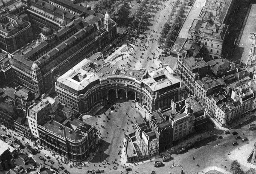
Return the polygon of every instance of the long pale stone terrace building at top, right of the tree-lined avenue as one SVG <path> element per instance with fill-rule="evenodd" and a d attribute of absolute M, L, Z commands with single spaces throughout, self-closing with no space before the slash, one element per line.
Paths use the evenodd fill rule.
<path fill-rule="evenodd" d="M 204 44 L 210 57 L 221 57 L 235 0 L 207 0 L 189 29 L 190 39 Z"/>

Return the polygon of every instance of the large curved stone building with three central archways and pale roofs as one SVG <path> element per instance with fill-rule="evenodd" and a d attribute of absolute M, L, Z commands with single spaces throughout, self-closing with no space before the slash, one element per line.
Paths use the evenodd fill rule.
<path fill-rule="evenodd" d="M 170 67 L 149 73 L 146 69 L 124 70 L 98 55 L 84 59 L 57 79 L 55 90 L 62 104 L 84 113 L 111 99 L 130 98 L 152 112 L 185 95 L 183 81 Z"/>

